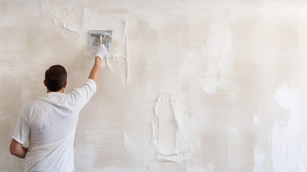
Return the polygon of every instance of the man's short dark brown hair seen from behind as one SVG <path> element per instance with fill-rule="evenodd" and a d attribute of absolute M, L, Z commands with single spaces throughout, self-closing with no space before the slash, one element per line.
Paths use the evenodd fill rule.
<path fill-rule="evenodd" d="M 61 65 L 53 65 L 45 72 L 45 82 L 49 91 L 59 91 L 64 87 L 67 72 Z"/>

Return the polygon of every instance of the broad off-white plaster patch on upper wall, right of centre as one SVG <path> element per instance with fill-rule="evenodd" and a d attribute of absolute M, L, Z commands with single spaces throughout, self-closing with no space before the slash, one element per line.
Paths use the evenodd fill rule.
<path fill-rule="evenodd" d="M 191 48 L 185 54 L 185 60 L 180 65 L 181 82 L 189 79 L 207 94 L 229 88 L 232 65 L 230 28 L 230 21 L 209 24 L 206 44 Z"/>

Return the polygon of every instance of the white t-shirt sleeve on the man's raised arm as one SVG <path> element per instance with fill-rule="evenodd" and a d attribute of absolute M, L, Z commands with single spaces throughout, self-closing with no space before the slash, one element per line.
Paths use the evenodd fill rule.
<path fill-rule="evenodd" d="M 84 105 L 90 100 L 92 95 L 96 92 L 97 86 L 94 80 L 87 79 L 83 86 L 75 88 L 69 92 L 72 94 L 73 101 L 77 101 L 80 108 L 83 108 Z"/>

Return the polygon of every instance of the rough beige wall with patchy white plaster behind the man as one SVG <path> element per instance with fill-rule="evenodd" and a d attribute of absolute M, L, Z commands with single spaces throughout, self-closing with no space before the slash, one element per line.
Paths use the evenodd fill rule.
<path fill-rule="evenodd" d="M 307 171 L 305 1 L 0 1 L 0 171 L 45 70 L 88 77 L 89 30 L 109 64 L 80 112 L 76 171 Z"/>

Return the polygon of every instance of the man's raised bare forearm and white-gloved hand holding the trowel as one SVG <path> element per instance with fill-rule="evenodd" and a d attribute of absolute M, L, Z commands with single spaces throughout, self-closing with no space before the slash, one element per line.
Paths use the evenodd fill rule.
<path fill-rule="evenodd" d="M 90 75 L 88 76 L 89 79 L 95 81 L 96 85 L 98 85 L 99 81 L 101 62 L 103 59 L 105 60 L 105 56 L 107 55 L 107 53 L 108 53 L 107 48 L 104 44 L 101 44 L 96 48 L 95 63 L 91 70 Z"/>

